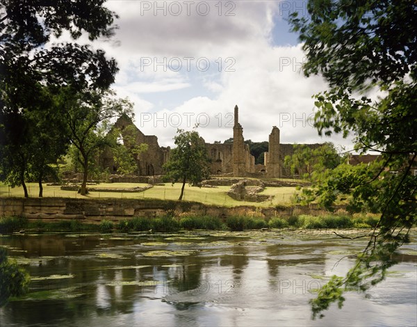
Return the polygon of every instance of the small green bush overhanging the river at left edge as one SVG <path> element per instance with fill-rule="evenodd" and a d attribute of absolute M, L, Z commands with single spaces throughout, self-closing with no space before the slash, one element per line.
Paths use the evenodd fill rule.
<path fill-rule="evenodd" d="M 0 308 L 6 305 L 10 296 L 21 296 L 28 291 L 29 274 L 8 259 L 7 250 L 0 246 Z"/>

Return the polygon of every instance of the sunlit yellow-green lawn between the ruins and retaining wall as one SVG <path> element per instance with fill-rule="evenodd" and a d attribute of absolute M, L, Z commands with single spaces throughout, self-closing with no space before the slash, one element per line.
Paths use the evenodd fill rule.
<path fill-rule="evenodd" d="M 37 183 L 26 184 L 29 197 L 37 198 L 39 187 Z M 147 186 L 147 184 L 135 183 L 101 183 L 92 187 L 101 189 L 131 189 L 136 186 Z M 291 202 L 291 196 L 295 193 L 295 187 L 267 187 L 261 194 L 274 196 L 272 200 L 265 202 L 245 202 L 237 201 L 227 196 L 229 186 L 218 186 L 216 188 L 198 188 L 186 184 L 185 196 L 183 200 L 202 202 L 206 205 L 220 205 L 226 207 L 235 207 L 238 205 L 256 205 L 257 207 L 271 207 L 275 205 L 284 205 Z M 117 193 L 117 192 L 100 192 L 92 191 L 88 196 L 80 196 L 76 191 L 63 191 L 60 186 L 44 185 L 44 198 L 156 198 L 161 200 L 177 200 L 181 193 L 181 184 L 164 186 L 154 186 L 152 189 L 140 193 Z M 5 184 L 0 184 L 0 197 L 23 197 L 23 188 L 12 188 Z"/>

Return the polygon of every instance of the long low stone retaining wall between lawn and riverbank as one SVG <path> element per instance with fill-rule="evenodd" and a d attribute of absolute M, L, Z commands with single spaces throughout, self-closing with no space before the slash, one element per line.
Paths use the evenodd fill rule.
<path fill-rule="evenodd" d="M 163 216 L 171 210 L 176 214 L 187 212 L 220 218 L 245 214 L 272 217 L 322 213 L 321 210 L 311 207 L 216 207 L 199 202 L 156 199 L 0 198 L 0 216 L 24 216 L 44 221 L 67 219 L 80 219 L 86 222 L 99 222 L 103 219 L 120 221 L 135 216 L 149 218 Z"/>

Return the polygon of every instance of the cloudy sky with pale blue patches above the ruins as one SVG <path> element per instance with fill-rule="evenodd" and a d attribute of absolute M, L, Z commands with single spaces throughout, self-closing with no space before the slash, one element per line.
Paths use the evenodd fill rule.
<path fill-rule="evenodd" d="M 199 123 L 206 142 L 232 136 L 233 109 L 245 139 L 281 143 L 333 141 L 311 127 L 311 95 L 325 90 L 320 77 L 300 72 L 304 55 L 289 32 L 288 13 L 306 13 L 306 1 L 122 1 L 106 6 L 120 18 L 111 40 L 95 42 L 117 59 L 113 86 L 135 103 L 136 125 L 173 145 L 177 128 Z"/>

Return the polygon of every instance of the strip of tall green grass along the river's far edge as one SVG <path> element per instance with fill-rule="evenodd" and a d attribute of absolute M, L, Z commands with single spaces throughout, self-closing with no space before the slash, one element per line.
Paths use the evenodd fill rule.
<path fill-rule="evenodd" d="M 22 217 L 0 218 L 0 234 L 12 232 L 177 232 L 178 230 L 252 230 L 261 228 L 373 228 L 379 216 L 375 214 L 326 214 L 311 216 L 302 214 L 269 219 L 250 216 L 229 216 L 221 219 L 213 216 L 183 214 L 178 217 L 135 217 L 118 223 L 101 221 L 99 224 L 79 220 L 45 222 Z"/>

